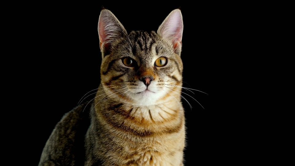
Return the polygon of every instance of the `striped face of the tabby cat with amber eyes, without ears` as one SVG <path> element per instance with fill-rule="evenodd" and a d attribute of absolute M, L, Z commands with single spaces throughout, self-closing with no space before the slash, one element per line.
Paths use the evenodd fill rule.
<path fill-rule="evenodd" d="M 175 89 L 168 85 L 182 86 L 182 61 L 171 42 L 155 32 L 133 31 L 113 47 L 100 71 L 102 84 L 118 86 L 105 88 L 114 90 L 113 96 L 122 93 L 118 97 L 128 96 L 133 105 L 153 105 Z"/>

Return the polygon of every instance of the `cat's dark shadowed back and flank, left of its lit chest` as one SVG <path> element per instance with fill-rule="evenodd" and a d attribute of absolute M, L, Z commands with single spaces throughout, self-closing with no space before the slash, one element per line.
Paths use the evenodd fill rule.
<path fill-rule="evenodd" d="M 41 165 L 84 165 L 84 136 L 90 125 L 91 103 L 85 102 L 61 118 L 55 125 L 41 154 Z"/>

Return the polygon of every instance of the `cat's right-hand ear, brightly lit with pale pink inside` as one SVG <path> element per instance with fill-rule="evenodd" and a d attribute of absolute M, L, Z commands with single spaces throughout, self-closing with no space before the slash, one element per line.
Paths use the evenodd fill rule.
<path fill-rule="evenodd" d="M 157 33 L 161 35 L 163 39 L 171 41 L 173 44 L 174 52 L 180 56 L 183 33 L 183 20 L 181 11 L 179 9 L 171 11 L 171 13 L 159 26 Z"/>

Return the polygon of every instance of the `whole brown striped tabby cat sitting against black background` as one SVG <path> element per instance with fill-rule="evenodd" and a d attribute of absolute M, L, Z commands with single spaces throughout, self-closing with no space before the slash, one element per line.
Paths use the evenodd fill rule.
<path fill-rule="evenodd" d="M 102 62 L 96 97 L 62 117 L 39 166 L 183 165 L 181 11 L 173 10 L 157 32 L 127 34 L 103 9 L 98 34 Z"/>

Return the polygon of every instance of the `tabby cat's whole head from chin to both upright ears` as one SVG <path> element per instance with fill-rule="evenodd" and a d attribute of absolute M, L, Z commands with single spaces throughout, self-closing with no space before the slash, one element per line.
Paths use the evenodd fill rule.
<path fill-rule="evenodd" d="M 101 83 L 108 98 L 121 98 L 133 105 L 154 105 L 171 97 L 179 99 L 183 70 L 180 58 L 183 20 L 179 9 L 167 16 L 157 33 L 130 34 L 111 11 L 104 9 L 99 17 L 98 34 Z"/>

